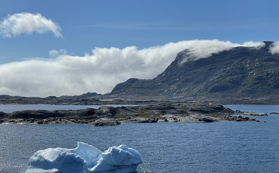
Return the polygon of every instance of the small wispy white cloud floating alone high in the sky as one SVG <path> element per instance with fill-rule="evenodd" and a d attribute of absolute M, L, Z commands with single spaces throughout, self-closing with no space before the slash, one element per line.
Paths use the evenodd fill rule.
<path fill-rule="evenodd" d="M 61 27 L 39 13 L 17 13 L 8 15 L 8 17 L 0 22 L 0 34 L 3 37 L 15 37 L 20 34 L 29 35 L 33 32 L 39 34 L 52 32 L 55 37 L 62 37 Z"/>

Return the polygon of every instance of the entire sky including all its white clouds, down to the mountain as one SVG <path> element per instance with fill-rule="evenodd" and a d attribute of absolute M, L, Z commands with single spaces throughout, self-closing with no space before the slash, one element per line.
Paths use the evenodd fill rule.
<path fill-rule="evenodd" d="M 107 93 L 176 54 L 279 41 L 279 1 L 0 1 L 0 95 Z M 279 52 L 279 43 L 273 53 Z"/>

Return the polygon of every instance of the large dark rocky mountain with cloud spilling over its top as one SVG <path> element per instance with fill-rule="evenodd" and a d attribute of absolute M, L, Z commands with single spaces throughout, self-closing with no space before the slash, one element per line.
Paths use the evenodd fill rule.
<path fill-rule="evenodd" d="M 279 54 L 271 54 L 274 42 L 262 47 L 234 47 L 208 58 L 184 62 L 188 50 L 177 54 L 154 79 L 117 84 L 112 98 L 262 98 L 279 93 Z"/>

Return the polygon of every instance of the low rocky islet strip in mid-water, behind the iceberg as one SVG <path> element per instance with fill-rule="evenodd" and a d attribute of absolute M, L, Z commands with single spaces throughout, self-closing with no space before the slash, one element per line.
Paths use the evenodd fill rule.
<path fill-rule="evenodd" d="M 113 126 L 123 122 L 259 122 L 256 118 L 242 117 L 241 115 L 267 116 L 267 114 L 233 111 L 223 107 L 221 104 L 213 103 L 156 103 L 144 106 L 101 106 L 99 109 L 0 112 L 0 124 L 89 124 L 93 126 Z"/>

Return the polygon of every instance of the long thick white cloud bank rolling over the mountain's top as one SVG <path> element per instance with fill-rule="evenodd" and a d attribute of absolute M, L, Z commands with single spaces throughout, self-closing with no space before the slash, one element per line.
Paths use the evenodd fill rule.
<path fill-rule="evenodd" d="M 246 42 L 249 46 L 262 43 Z M 219 40 L 189 40 L 139 50 L 98 48 L 92 54 L 71 56 L 64 50 L 50 51 L 52 58 L 35 58 L 0 65 L 0 94 L 20 96 L 107 93 L 129 78 L 152 79 L 162 73 L 178 52 L 189 49 L 192 60 L 242 46 Z"/>

